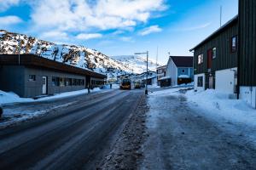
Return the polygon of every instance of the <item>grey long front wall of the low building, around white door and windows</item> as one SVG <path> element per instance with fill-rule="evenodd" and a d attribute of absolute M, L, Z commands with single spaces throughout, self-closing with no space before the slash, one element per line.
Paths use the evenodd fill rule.
<path fill-rule="evenodd" d="M 29 81 L 29 75 L 36 75 L 36 81 Z M 22 97 L 35 97 L 42 95 L 43 77 L 47 77 L 48 80 L 47 94 L 60 94 L 63 92 L 70 92 L 85 88 L 84 76 L 74 75 L 61 71 L 52 71 L 46 69 L 26 67 L 24 72 L 25 93 Z M 52 77 L 83 79 L 84 86 L 55 86 L 52 82 Z"/>

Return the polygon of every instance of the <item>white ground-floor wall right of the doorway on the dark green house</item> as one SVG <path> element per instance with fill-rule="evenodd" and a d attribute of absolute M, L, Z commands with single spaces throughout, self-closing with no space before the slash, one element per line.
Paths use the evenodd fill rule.
<path fill-rule="evenodd" d="M 216 71 L 215 72 L 215 89 L 219 92 L 234 94 L 235 71 L 237 71 L 237 68 Z"/>

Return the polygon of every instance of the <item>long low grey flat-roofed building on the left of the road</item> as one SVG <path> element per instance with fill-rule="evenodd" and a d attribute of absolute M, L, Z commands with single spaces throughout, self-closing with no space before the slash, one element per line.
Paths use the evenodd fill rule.
<path fill-rule="evenodd" d="M 20 62 L 19 62 L 20 60 Z M 104 83 L 107 76 L 33 54 L 0 55 L 0 89 L 37 98 Z"/>

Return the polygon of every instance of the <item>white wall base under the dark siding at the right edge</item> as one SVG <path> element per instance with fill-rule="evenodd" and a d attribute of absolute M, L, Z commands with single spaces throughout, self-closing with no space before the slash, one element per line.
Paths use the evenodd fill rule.
<path fill-rule="evenodd" d="M 251 105 L 256 109 L 256 87 L 240 87 L 240 99 L 247 102 L 248 105 Z"/>

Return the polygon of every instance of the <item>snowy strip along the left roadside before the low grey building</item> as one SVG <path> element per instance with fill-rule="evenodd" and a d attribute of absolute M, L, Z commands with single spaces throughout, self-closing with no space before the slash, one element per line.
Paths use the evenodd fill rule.
<path fill-rule="evenodd" d="M 109 89 L 94 88 L 91 93 L 103 94 Z M 76 100 L 66 100 L 67 98 L 76 97 L 87 94 L 87 89 L 55 94 L 41 99 L 20 98 L 17 94 L 5 93 L 0 91 L 0 104 L 3 105 L 3 116 L 0 117 L 0 128 L 9 127 L 11 125 L 26 122 L 44 116 L 50 111 L 56 111 L 67 108 L 70 105 L 76 104 Z M 63 102 L 55 102 L 55 99 L 65 99 Z M 50 102 L 50 104 L 42 104 Z"/>

